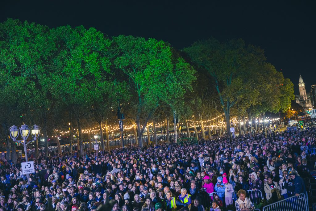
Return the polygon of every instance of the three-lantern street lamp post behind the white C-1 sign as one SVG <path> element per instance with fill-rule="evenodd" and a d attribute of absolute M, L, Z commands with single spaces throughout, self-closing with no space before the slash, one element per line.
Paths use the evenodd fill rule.
<path fill-rule="evenodd" d="M 19 133 L 21 134 L 23 140 L 16 140 L 17 137 L 19 136 Z M 23 143 L 24 153 L 25 153 L 25 162 L 28 161 L 26 145 L 31 141 L 37 140 L 37 138 L 40 134 L 40 127 L 37 125 L 32 126 L 31 133 L 32 133 L 33 140 L 29 140 L 27 142 L 27 138 L 30 135 L 30 128 L 26 124 L 23 124 L 21 127 L 17 127 L 15 125 L 10 127 L 10 137 L 12 138 L 12 140 L 15 142 L 19 142 L 21 144 Z M 27 174 L 27 183 L 30 184 L 30 175 L 29 174 Z"/>

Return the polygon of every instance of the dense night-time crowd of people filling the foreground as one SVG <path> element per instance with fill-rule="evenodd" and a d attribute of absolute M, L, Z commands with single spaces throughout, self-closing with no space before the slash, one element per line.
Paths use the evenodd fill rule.
<path fill-rule="evenodd" d="M 306 193 L 315 169 L 316 130 L 221 137 L 197 143 L 128 146 L 98 154 L 33 159 L 27 181 L 17 164 L 0 162 L 0 211 L 252 210 Z M 254 200 L 255 199 L 255 200 Z"/>

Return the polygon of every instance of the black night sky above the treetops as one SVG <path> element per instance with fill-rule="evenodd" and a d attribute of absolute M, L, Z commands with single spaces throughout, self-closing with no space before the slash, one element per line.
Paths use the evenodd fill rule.
<path fill-rule="evenodd" d="M 316 84 L 315 9 L 315 1 L 11 0 L 0 4 L 0 22 L 11 17 L 49 27 L 83 25 L 109 36 L 153 37 L 179 49 L 211 36 L 242 38 L 263 48 L 298 93 L 299 73 L 307 92 Z"/>

